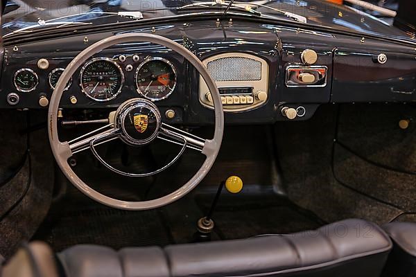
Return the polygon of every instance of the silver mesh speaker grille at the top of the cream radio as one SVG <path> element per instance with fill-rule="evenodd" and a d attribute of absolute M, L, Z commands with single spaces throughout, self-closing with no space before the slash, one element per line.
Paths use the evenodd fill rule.
<path fill-rule="evenodd" d="M 207 64 L 214 81 L 261 80 L 261 62 L 248 57 L 220 57 Z"/>

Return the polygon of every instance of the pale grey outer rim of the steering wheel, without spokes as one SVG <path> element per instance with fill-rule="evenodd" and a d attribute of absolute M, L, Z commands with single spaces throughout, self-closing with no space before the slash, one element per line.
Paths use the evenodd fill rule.
<path fill-rule="evenodd" d="M 102 51 L 105 48 L 113 46 L 114 44 L 122 44 L 125 42 L 150 42 L 153 44 L 159 44 L 168 48 L 171 48 L 176 53 L 182 55 L 185 59 L 187 59 L 200 73 L 202 78 L 207 83 L 209 91 L 212 95 L 212 100 L 214 102 L 214 114 L 215 114 L 215 131 L 214 131 L 214 138 L 211 140 L 207 140 L 205 143 L 204 150 L 202 151 L 203 154 L 206 155 L 206 159 L 198 172 L 196 172 L 186 184 L 184 184 L 181 188 L 175 190 L 173 193 L 165 195 L 164 197 L 160 197 L 157 199 L 152 199 L 143 202 L 130 202 L 130 201 L 123 201 L 120 199 L 114 199 L 112 197 L 108 197 L 101 193 L 98 193 L 97 190 L 89 187 L 87 184 L 81 180 L 75 172 L 73 172 L 72 168 L 67 163 L 67 159 L 72 156 L 71 150 L 69 149 L 68 143 L 62 143 L 59 140 L 58 136 L 58 108 L 60 99 L 62 98 L 62 93 L 64 88 L 73 75 L 75 71 L 78 69 L 79 66 L 84 64 L 90 57 L 94 54 Z M 55 157 L 58 166 L 64 173 L 64 175 L 71 181 L 71 183 L 76 186 L 82 193 L 87 195 L 88 197 L 100 202 L 101 204 L 105 204 L 107 206 L 111 206 L 113 208 L 120 208 L 123 210 L 133 210 L 133 211 L 140 211 L 140 210 L 148 210 L 152 208 L 158 208 L 160 206 L 165 206 L 170 204 L 184 195 L 187 195 L 193 188 L 198 186 L 200 181 L 205 178 L 209 170 L 214 164 L 214 161 L 218 155 L 218 151 L 220 150 L 221 141 L 223 139 L 223 130 L 224 130 L 224 113 L 223 113 L 223 106 L 220 100 L 220 93 L 218 92 L 218 88 L 214 80 L 212 80 L 211 76 L 207 72 L 205 66 L 200 62 L 196 55 L 193 55 L 191 51 L 184 46 L 177 44 L 177 42 L 173 42 L 171 39 L 167 39 L 165 37 L 159 35 L 152 35 L 146 33 L 128 33 L 128 34 L 121 34 L 121 35 L 114 35 L 112 37 L 107 37 L 102 39 L 99 42 L 96 42 L 86 48 L 84 51 L 80 52 L 72 61 L 69 63 L 67 68 L 64 70 L 62 75 L 60 76 L 58 83 L 55 86 L 55 90 L 51 96 L 51 101 L 49 104 L 49 111 L 48 111 L 48 134 L 49 134 L 49 142 L 51 143 L 51 148 L 53 152 L 53 156 Z"/>

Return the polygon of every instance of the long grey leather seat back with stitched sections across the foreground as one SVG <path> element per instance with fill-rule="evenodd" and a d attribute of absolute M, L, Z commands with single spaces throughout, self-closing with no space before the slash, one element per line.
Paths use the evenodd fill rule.
<path fill-rule="evenodd" d="M 66 277 L 376 277 L 380 276 L 391 248 L 388 235 L 375 224 L 345 220 L 291 235 L 182 244 L 165 249 L 114 251 L 78 245 L 58 253 L 58 260 Z M 9 276 L 16 275 L 3 277 Z"/>

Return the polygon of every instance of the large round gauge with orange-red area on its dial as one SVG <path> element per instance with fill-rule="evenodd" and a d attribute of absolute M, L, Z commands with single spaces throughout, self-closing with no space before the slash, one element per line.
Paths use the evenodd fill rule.
<path fill-rule="evenodd" d="M 150 57 L 136 70 L 137 92 L 152 101 L 167 98 L 176 86 L 173 64 L 162 57 Z"/>

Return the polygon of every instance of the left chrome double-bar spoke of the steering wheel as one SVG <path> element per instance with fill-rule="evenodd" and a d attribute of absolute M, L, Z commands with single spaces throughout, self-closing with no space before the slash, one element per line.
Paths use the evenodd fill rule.
<path fill-rule="evenodd" d="M 113 126 L 113 124 L 105 125 L 92 132 L 78 136 L 78 138 L 68 142 L 69 149 L 72 154 L 76 154 L 89 149 L 92 141 L 94 141 L 94 145 L 100 145 L 117 139 L 120 132 L 119 129 L 115 129 Z"/>

